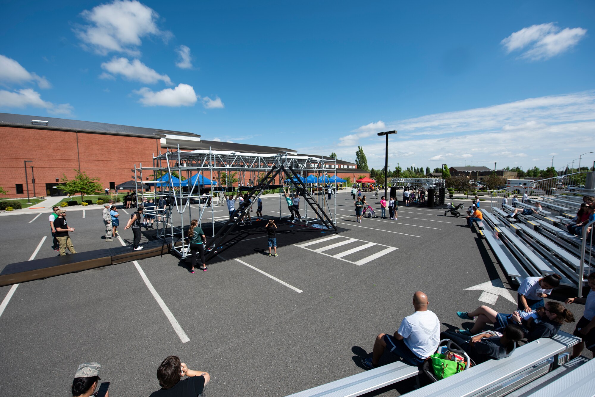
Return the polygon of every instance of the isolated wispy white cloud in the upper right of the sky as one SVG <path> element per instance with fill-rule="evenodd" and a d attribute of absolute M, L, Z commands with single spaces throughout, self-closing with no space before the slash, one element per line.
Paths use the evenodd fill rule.
<path fill-rule="evenodd" d="M 521 58 L 530 61 L 549 59 L 568 51 L 585 37 L 587 29 L 581 27 L 560 30 L 554 23 L 543 23 L 515 31 L 500 42 L 507 53 L 527 49 Z"/>

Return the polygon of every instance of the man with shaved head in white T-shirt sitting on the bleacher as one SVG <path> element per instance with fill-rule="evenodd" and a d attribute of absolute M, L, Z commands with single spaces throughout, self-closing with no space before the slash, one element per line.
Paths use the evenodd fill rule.
<path fill-rule="evenodd" d="M 428 297 L 423 292 L 415 292 L 415 313 L 403 319 L 394 335 L 378 335 L 374 342 L 372 358 L 362 357 L 362 365 L 368 369 L 377 367 L 387 347 L 405 363 L 416 367 L 421 366 L 426 358 L 434 354 L 440 344 L 440 322 L 436 314 L 428 310 L 428 304 Z"/>

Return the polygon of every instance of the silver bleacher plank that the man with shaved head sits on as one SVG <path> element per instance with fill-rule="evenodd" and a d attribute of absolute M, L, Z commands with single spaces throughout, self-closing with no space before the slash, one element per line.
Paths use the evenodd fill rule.
<path fill-rule="evenodd" d="M 324 385 L 312 387 L 293 393 L 287 397 L 352 397 L 372 392 L 381 387 L 392 385 L 401 380 L 416 376 L 417 367 L 409 366 L 403 361 L 387 364 L 359 374 L 334 380 Z"/>

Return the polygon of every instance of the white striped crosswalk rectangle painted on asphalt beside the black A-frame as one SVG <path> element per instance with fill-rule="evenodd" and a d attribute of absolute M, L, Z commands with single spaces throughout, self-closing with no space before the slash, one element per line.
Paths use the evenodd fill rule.
<path fill-rule="evenodd" d="M 334 240 L 336 238 L 343 238 L 344 240 L 339 241 L 339 242 L 333 241 L 332 244 L 325 245 L 324 247 L 320 247 L 320 248 L 309 248 L 310 245 L 318 244 L 320 242 Z M 325 253 L 325 251 L 332 250 L 333 248 L 342 247 L 343 245 L 347 245 L 347 244 L 351 244 L 352 246 L 353 246 L 353 244 L 361 244 L 361 245 L 358 245 L 357 247 L 349 248 L 346 251 L 336 253 L 336 254 Z M 378 244 L 377 242 L 364 241 L 364 240 L 359 240 L 358 238 L 351 238 L 351 237 L 345 237 L 345 236 L 340 236 L 340 235 L 332 235 L 329 237 L 321 238 L 320 240 L 309 241 L 309 242 L 306 242 L 305 244 L 293 244 L 293 245 L 295 245 L 296 247 L 304 248 L 305 250 L 308 250 L 308 251 L 312 251 L 312 252 L 315 252 L 315 253 L 318 253 L 321 255 L 325 255 L 325 256 L 334 258 L 334 259 L 339 259 L 339 260 L 342 260 L 342 261 L 345 261 L 348 263 L 356 264 L 358 266 L 361 266 L 362 264 L 368 263 L 372 260 L 378 259 L 378 258 L 398 249 L 396 247 L 390 247 L 389 245 Z M 371 253 L 371 254 L 362 253 L 361 255 L 364 257 L 360 257 L 359 259 L 356 259 L 356 260 L 343 259 L 343 257 L 358 253 L 359 251 L 364 251 L 367 248 L 372 248 L 375 246 L 381 247 L 383 249 L 381 249 L 378 252 Z M 372 248 L 372 250 L 373 250 L 373 248 Z"/>

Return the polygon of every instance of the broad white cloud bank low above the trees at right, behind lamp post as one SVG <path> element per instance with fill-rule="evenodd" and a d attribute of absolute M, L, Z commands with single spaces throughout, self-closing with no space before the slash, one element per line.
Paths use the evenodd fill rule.
<path fill-rule="evenodd" d="M 595 91 L 528 98 L 383 124 L 387 130 L 399 131 L 389 140 L 391 169 L 397 162 L 402 168 L 418 163 L 434 169 L 441 163 L 465 165 L 465 160 L 490 167 L 497 162 L 498 168 L 519 164 L 544 168 L 550 165 L 552 155 L 548 153 L 564 147 L 562 155 L 554 155 L 559 168 L 560 162 L 566 165 L 578 157 L 580 150 L 595 151 Z M 299 151 L 336 152 L 339 158 L 354 161 L 358 146 L 362 146 L 370 168 L 383 168 L 384 139 L 365 139 L 371 136 L 374 125 L 380 126 L 362 125 L 354 130 L 361 131 L 359 134 L 339 137 L 339 144 L 302 147 Z M 528 163 L 533 158 L 544 163 Z"/>

